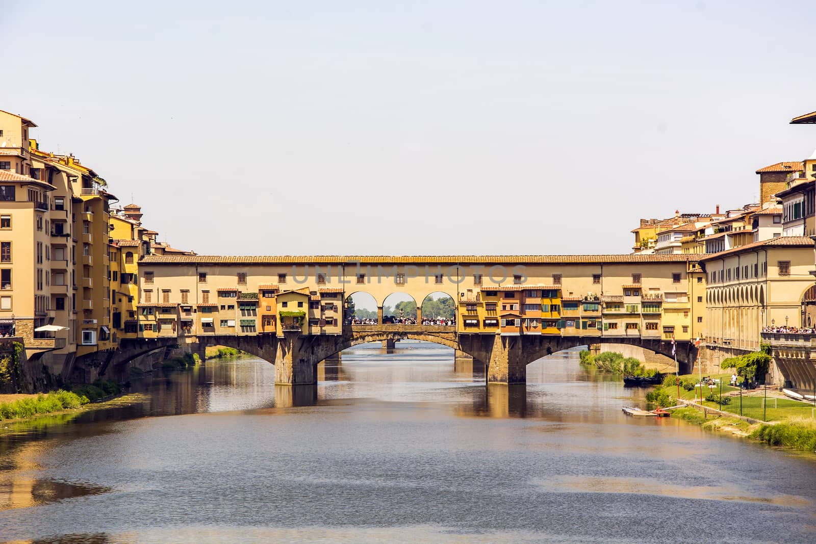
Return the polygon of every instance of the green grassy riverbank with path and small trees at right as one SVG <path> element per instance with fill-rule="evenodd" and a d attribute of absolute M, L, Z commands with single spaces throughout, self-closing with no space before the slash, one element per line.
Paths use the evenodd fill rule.
<path fill-rule="evenodd" d="M 672 416 L 701 425 L 710 431 L 725 432 L 783 446 L 800 452 L 816 451 L 816 406 L 788 399 L 775 389 L 744 391 L 726 386 L 730 374 L 714 375 L 717 387 L 694 387 L 698 377 L 681 376 L 680 395 L 672 376 L 650 391 L 647 399 L 659 406 L 687 404 L 673 409 Z"/>

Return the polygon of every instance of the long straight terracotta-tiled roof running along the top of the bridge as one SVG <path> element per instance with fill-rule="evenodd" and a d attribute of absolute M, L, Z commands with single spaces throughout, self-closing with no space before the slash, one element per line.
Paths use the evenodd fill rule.
<path fill-rule="evenodd" d="M 685 263 L 698 259 L 688 254 L 596 254 L 596 255 L 146 255 L 145 264 L 348 264 L 445 263 L 445 264 L 546 264 L 546 263 Z"/>

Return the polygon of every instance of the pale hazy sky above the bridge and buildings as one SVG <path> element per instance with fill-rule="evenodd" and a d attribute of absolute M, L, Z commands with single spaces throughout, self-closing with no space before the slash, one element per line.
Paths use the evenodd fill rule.
<path fill-rule="evenodd" d="M 2 2 L 0 109 L 199 254 L 628 253 L 816 126 L 809 2 Z"/>

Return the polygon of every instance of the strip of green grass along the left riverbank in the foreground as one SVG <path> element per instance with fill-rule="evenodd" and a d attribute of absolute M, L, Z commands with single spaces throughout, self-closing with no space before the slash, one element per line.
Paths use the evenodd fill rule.
<path fill-rule="evenodd" d="M 51 391 L 13 402 L 0 403 L 0 421 L 33 418 L 41 414 L 53 414 L 66 409 L 79 408 L 89 402 L 108 396 L 119 395 L 122 387 L 113 380 L 96 380 L 94 383 L 71 387 L 71 391 Z"/>

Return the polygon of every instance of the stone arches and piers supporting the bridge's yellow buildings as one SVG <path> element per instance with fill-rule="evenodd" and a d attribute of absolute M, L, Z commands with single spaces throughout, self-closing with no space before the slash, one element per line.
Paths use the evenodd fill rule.
<path fill-rule="evenodd" d="M 402 339 L 424 340 L 451 347 L 472 356 L 474 364 L 486 365 L 487 383 L 526 383 L 526 367 L 534 360 L 570 347 L 594 343 L 624 343 L 644 347 L 652 352 L 672 356 L 671 341 L 637 336 L 560 336 L 523 334 L 458 333 L 453 326 L 440 325 L 345 325 L 342 334 L 302 335 L 284 332 L 274 334 L 199 335 L 198 349 L 227 346 L 259 356 L 275 365 L 275 383 L 304 385 L 317 383 L 317 364 L 348 347 L 369 342 L 393 342 Z M 677 360 L 681 371 L 689 371 L 697 356 L 690 342 L 677 343 Z M 203 359 L 202 354 L 202 359 Z M 684 370 L 685 369 L 685 370 Z"/>

